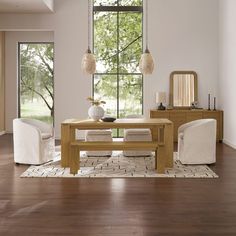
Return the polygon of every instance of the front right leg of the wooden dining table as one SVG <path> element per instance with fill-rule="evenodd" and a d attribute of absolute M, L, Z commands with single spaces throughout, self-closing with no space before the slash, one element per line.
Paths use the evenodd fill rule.
<path fill-rule="evenodd" d="M 174 160 L 174 140 L 173 140 L 173 123 L 165 126 L 164 129 L 164 149 L 166 156 L 166 167 L 173 168 Z"/>

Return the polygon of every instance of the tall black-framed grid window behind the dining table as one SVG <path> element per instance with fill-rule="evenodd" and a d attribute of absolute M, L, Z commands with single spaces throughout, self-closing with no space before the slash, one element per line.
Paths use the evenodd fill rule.
<path fill-rule="evenodd" d="M 97 71 L 95 98 L 106 101 L 106 115 L 143 113 L 142 0 L 94 0 L 93 45 Z M 119 134 L 118 134 L 119 135 Z"/>

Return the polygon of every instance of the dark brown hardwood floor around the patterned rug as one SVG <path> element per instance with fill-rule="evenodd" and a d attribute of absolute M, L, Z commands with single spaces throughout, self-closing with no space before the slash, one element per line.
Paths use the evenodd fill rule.
<path fill-rule="evenodd" d="M 217 144 L 219 179 L 20 178 L 0 136 L 0 235 L 236 235 L 236 150 Z"/>

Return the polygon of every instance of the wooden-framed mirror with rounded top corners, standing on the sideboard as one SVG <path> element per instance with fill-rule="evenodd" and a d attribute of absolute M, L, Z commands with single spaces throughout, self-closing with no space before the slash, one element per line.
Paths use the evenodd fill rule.
<path fill-rule="evenodd" d="M 173 71 L 170 74 L 170 106 L 190 108 L 198 101 L 197 73 L 195 71 Z"/>

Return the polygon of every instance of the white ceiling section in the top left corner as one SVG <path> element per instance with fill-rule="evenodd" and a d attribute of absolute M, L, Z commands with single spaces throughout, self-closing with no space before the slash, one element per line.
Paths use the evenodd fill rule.
<path fill-rule="evenodd" d="M 0 0 L 0 13 L 52 13 L 53 0 Z"/>

